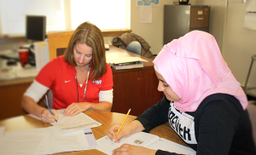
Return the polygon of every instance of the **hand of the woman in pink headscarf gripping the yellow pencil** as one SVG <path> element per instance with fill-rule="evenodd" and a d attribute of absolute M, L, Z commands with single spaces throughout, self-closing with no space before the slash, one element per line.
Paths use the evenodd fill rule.
<path fill-rule="evenodd" d="M 123 137 L 129 137 L 132 133 L 132 129 L 129 126 L 130 124 L 124 124 L 122 129 L 119 132 L 119 135 L 115 136 L 121 126 L 120 123 L 114 123 L 109 129 L 108 129 L 108 137 L 115 142 L 120 142 L 120 139 Z"/>

